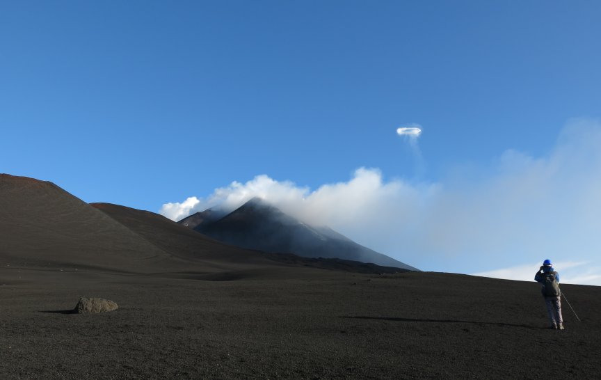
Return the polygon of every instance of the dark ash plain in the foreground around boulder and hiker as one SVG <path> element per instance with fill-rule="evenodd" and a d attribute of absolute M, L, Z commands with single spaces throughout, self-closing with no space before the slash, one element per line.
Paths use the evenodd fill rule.
<path fill-rule="evenodd" d="M 289 268 L 280 278 L 0 267 L 1 379 L 598 379 L 601 288 Z M 66 314 L 79 294 L 120 308 Z M 74 365 L 77 363 L 77 365 Z"/>

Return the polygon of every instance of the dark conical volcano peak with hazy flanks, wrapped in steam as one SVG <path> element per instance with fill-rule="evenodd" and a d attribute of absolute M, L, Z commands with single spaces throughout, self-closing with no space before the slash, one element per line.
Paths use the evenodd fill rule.
<path fill-rule="evenodd" d="M 317 228 L 302 223 L 259 198 L 249 200 L 225 216 L 209 209 L 178 223 L 221 242 L 243 248 L 419 270 L 361 246 L 330 228 Z"/>

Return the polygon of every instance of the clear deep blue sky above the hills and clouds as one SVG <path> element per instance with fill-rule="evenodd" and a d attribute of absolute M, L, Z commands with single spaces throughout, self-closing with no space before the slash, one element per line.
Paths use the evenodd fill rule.
<path fill-rule="evenodd" d="M 0 172 L 157 211 L 261 174 L 438 183 L 546 157 L 601 116 L 600 19 L 598 1 L 6 1 Z"/>

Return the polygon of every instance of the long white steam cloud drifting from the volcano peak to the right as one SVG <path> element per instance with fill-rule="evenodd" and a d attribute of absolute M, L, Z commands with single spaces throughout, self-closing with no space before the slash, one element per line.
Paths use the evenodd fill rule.
<path fill-rule="evenodd" d="M 563 283 L 601 285 L 599 147 L 601 123 L 572 120 L 545 157 L 507 150 L 440 182 L 384 180 L 378 169 L 360 168 L 348 182 L 311 190 L 258 175 L 160 212 L 179 220 L 260 196 L 419 269 L 531 281 L 550 258 Z"/>

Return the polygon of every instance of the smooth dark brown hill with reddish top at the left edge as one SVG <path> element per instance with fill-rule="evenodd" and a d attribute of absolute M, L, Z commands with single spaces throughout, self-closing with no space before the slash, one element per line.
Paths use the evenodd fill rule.
<path fill-rule="evenodd" d="M 21 267 L 141 273 L 177 264 L 165 251 L 55 184 L 6 174 L 0 174 L 0 258 Z"/>

